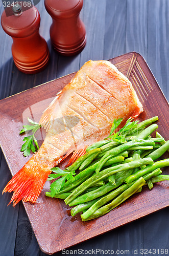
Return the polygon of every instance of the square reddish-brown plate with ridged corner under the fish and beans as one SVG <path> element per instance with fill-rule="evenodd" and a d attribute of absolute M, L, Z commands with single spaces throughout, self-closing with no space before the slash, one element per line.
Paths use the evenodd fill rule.
<path fill-rule="evenodd" d="M 168 103 L 146 61 L 135 52 L 110 61 L 132 82 L 144 108 L 139 119 L 158 115 L 158 131 L 168 139 Z M 61 77 L 0 101 L 0 143 L 12 175 L 28 161 L 20 152 L 23 137 L 19 136 L 19 131 L 22 124 L 27 122 L 28 116 L 38 122 L 46 106 L 73 76 Z M 80 215 L 70 216 L 70 208 L 64 201 L 45 197 L 49 187 L 48 181 L 35 204 L 23 203 L 41 250 L 49 254 L 169 205 L 168 182 L 164 181 L 156 184 L 151 191 L 144 188 L 141 194 L 134 195 L 105 216 L 82 222 Z"/>

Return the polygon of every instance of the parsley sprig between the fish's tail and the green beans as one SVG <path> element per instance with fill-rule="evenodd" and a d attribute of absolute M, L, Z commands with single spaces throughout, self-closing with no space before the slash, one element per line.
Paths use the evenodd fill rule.
<path fill-rule="evenodd" d="M 62 176 L 50 185 L 51 197 L 54 197 L 55 194 L 59 193 L 61 187 L 63 187 L 66 180 L 74 180 L 74 176 L 76 175 L 76 173 L 72 171 L 65 172 L 65 170 L 62 170 L 59 167 L 54 167 L 51 170 L 53 173 L 49 175 L 49 178 L 47 180 L 53 180 Z"/>

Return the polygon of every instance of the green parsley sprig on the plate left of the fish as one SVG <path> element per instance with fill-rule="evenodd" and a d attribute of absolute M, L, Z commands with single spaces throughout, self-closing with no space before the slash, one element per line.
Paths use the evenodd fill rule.
<path fill-rule="evenodd" d="M 31 125 L 27 124 L 27 125 L 23 125 L 23 129 L 20 131 L 19 134 L 25 133 L 25 132 L 31 132 L 32 134 L 29 136 L 26 136 L 23 141 L 25 141 L 21 147 L 21 152 L 23 152 L 23 156 L 27 157 L 30 155 L 31 151 L 33 153 L 35 153 L 37 150 L 39 150 L 39 145 L 37 142 L 37 139 L 35 138 L 35 133 L 36 131 L 40 128 L 40 125 L 31 120 L 28 117 L 28 121 L 31 123 Z"/>

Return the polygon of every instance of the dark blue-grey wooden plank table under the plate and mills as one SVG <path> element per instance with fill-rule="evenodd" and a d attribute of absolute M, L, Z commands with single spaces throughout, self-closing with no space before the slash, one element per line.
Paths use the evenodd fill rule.
<path fill-rule="evenodd" d="M 2 14 L 2 2 L 0 6 Z M 36 75 L 19 72 L 12 59 L 12 39 L 1 27 L 0 99 L 77 71 L 89 59 L 110 59 L 131 51 L 139 52 L 146 59 L 165 97 L 168 97 L 168 0 L 84 0 L 81 18 L 86 26 L 87 44 L 74 57 L 60 56 L 53 50 L 49 35 L 52 19 L 42 0 L 37 8 L 41 15 L 40 34 L 50 49 L 50 64 Z M 2 190 L 11 174 L 2 152 L 0 161 L 0 256 L 46 255 L 38 246 L 22 202 L 15 208 L 12 205 L 7 207 L 11 195 L 2 196 Z M 97 255 L 113 251 L 114 255 L 168 255 L 168 214 L 169 208 L 162 209 L 55 255 L 72 255 L 78 249 L 78 254 L 85 255 L 95 254 L 96 249 L 100 250 Z M 74 255 L 78 254 L 75 251 Z"/>

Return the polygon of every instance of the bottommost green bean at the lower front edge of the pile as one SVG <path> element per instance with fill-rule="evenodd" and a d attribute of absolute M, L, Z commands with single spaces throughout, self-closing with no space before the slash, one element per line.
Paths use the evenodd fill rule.
<path fill-rule="evenodd" d="M 128 199 L 130 196 L 132 196 L 140 187 L 144 185 L 145 181 L 141 177 L 139 178 L 133 185 L 131 185 L 129 188 L 127 188 L 122 194 L 120 194 L 118 197 L 116 197 L 111 203 L 106 204 L 102 206 L 101 208 L 97 209 L 95 212 L 93 212 L 92 215 L 90 215 L 87 219 L 82 219 L 82 221 L 87 221 L 91 219 L 98 218 L 100 216 L 103 216 L 107 214 L 107 212 L 114 209 L 119 204 L 123 203 L 126 199 Z"/>

